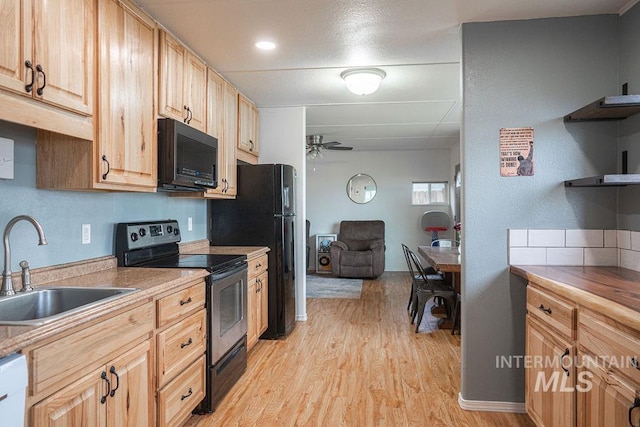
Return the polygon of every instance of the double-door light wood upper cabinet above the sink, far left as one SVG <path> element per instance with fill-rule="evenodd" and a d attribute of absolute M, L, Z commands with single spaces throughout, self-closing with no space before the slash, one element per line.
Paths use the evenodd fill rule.
<path fill-rule="evenodd" d="M 95 4 L 0 0 L 0 119 L 89 137 Z"/>

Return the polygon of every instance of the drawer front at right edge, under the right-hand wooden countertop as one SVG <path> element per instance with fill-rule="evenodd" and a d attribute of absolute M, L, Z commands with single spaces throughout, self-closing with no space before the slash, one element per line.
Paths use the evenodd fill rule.
<path fill-rule="evenodd" d="M 615 369 L 640 384 L 640 334 L 623 328 L 626 329 L 613 319 L 581 310 L 578 315 L 578 342 L 586 352 L 596 356 L 599 366 Z"/>

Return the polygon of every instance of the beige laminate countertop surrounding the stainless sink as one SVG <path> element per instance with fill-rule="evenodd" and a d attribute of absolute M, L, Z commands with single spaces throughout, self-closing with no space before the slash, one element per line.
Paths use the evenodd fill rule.
<path fill-rule="evenodd" d="M 37 344 L 41 340 L 48 339 L 76 326 L 91 322 L 110 312 L 121 310 L 145 300 L 150 300 L 154 295 L 169 291 L 175 287 L 180 287 L 199 278 L 203 278 L 208 274 L 206 270 L 197 269 L 116 267 L 115 258 L 113 258 L 113 261 L 108 260 L 106 264 L 104 262 L 102 262 L 102 264 L 102 266 L 96 267 L 102 269 L 94 272 L 87 272 L 91 271 L 92 263 L 82 264 L 81 270 L 85 272 L 84 274 L 67 278 L 56 278 L 47 282 L 39 282 L 35 279 L 37 274 L 34 274 L 32 283 L 36 288 L 46 286 L 81 286 L 137 288 L 139 290 L 41 326 L 0 326 L 0 357 L 20 351 L 27 346 Z M 55 276 L 55 269 L 48 270 L 49 273 L 53 271 L 52 275 Z"/>

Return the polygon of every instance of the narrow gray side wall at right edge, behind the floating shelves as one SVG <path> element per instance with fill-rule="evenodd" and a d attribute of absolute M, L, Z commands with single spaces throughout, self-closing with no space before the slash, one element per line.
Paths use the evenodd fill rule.
<path fill-rule="evenodd" d="M 629 84 L 629 94 L 640 94 L 639 41 L 640 4 L 636 4 L 620 18 L 620 84 Z M 640 114 L 618 122 L 618 145 L 619 151 L 628 151 L 629 173 L 640 173 Z M 621 188 L 618 203 L 618 228 L 640 230 L 640 186 Z"/>

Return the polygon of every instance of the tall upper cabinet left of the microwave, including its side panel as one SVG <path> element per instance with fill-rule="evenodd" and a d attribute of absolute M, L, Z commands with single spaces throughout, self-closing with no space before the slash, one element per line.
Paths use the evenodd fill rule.
<path fill-rule="evenodd" d="M 38 188 L 156 191 L 155 23 L 124 1 L 99 1 L 93 140 L 38 132 Z"/>

